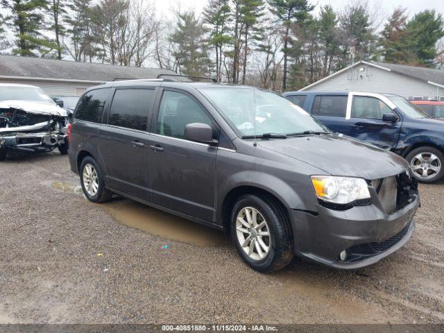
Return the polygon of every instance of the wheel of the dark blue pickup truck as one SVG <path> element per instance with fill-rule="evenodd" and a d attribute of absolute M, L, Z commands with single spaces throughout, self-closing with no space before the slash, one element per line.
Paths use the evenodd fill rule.
<path fill-rule="evenodd" d="M 444 176 L 444 155 L 438 149 L 428 146 L 413 149 L 406 157 L 410 172 L 418 182 L 431 183 Z"/>

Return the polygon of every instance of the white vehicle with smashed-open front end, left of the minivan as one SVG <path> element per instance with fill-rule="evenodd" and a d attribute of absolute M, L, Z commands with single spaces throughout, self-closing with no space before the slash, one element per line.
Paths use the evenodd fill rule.
<path fill-rule="evenodd" d="M 0 83 L 0 161 L 8 151 L 68 153 L 67 111 L 33 85 Z"/>

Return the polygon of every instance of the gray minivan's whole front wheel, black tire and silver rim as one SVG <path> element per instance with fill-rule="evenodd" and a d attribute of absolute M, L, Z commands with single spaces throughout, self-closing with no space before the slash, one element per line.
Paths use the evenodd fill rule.
<path fill-rule="evenodd" d="M 290 223 L 271 198 L 241 196 L 232 209 L 230 230 L 237 252 L 256 271 L 278 271 L 293 259 Z"/>

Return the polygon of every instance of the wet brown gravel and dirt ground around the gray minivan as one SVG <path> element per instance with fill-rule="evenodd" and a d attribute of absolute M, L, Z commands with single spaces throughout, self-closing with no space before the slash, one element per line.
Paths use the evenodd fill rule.
<path fill-rule="evenodd" d="M 359 271 L 271 275 L 221 232 L 129 200 L 89 203 L 67 157 L 0 164 L 0 323 L 444 323 L 444 184 L 404 248 Z"/>

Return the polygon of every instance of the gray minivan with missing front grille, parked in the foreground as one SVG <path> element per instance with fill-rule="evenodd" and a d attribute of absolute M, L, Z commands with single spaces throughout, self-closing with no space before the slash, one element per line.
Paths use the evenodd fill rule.
<path fill-rule="evenodd" d="M 402 157 L 253 87 L 167 78 L 92 87 L 69 140 L 90 201 L 118 194 L 230 232 L 262 272 L 294 255 L 373 264 L 407 242 L 419 206 Z"/>

